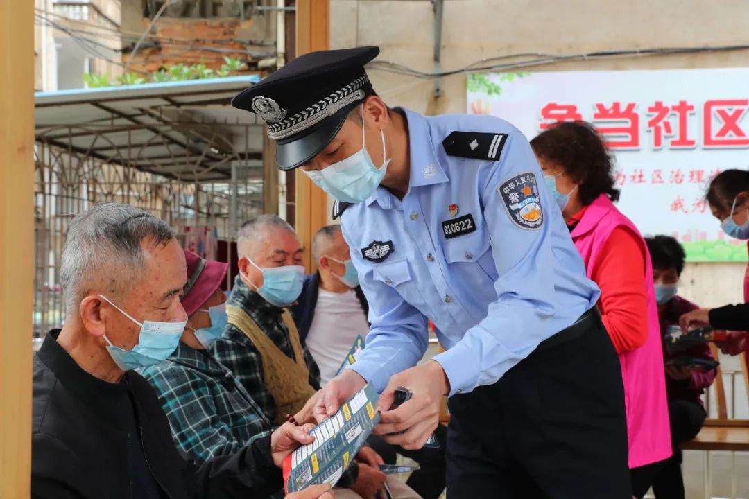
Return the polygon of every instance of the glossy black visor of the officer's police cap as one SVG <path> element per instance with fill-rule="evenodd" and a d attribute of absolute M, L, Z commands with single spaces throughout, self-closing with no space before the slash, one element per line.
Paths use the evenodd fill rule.
<path fill-rule="evenodd" d="M 276 165 L 279 170 L 294 170 L 317 156 L 338 135 L 348 117 L 348 111 L 360 104 L 361 101 L 357 101 L 345 106 L 301 137 L 276 142 Z"/>

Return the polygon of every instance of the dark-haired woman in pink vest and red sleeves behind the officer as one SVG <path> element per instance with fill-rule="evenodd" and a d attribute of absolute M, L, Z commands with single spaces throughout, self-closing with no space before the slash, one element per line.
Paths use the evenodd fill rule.
<path fill-rule="evenodd" d="M 629 468 L 642 498 L 671 456 L 658 308 L 643 237 L 613 201 L 612 159 L 588 123 L 557 123 L 530 142 L 562 209 L 587 275 L 601 288 L 598 308 L 622 365 Z M 594 359 L 591 359 L 594 361 Z"/>

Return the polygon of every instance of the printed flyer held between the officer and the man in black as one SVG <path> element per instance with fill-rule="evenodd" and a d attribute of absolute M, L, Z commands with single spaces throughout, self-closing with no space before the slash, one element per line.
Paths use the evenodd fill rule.
<path fill-rule="evenodd" d="M 312 444 L 294 450 L 283 463 L 286 493 L 311 485 L 335 485 L 380 421 L 377 391 L 366 385 L 338 412 L 312 429 Z"/>

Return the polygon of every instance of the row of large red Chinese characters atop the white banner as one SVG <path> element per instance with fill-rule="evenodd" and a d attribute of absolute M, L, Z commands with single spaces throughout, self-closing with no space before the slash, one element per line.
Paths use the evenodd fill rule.
<path fill-rule="evenodd" d="M 667 103 L 657 100 L 644 106 L 646 132 L 654 150 L 705 148 L 749 148 L 749 100 L 708 100 L 703 103 L 702 120 L 691 120 L 698 106 L 685 100 Z M 589 120 L 613 150 L 636 150 L 640 141 L 640 113 L 636 102 L 596 102 L 592 114 L 583 116 L 576 104 L 549 102 L 541 109 L 539 129 L 562 121 Z M 702 130 L 698 129 L 700 124 Z M 692 129 L 690 129 L 692 126 Z M 702 144 L 697 137 L 701 135 Z"/>

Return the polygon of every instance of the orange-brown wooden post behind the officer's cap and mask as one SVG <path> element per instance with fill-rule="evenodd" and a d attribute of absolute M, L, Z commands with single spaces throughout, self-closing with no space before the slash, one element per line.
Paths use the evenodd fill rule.
<path fill-rule="evenodd" d="M 329 0 L 297 0 L 296 55 L 326 50 L 330 46 Z M 315 186 L 301 171 L 296 178 L 296 230 L 303 247 L 304 266 L 314 272 L 312 237 L 327 224 L 327 195 Z"/>

